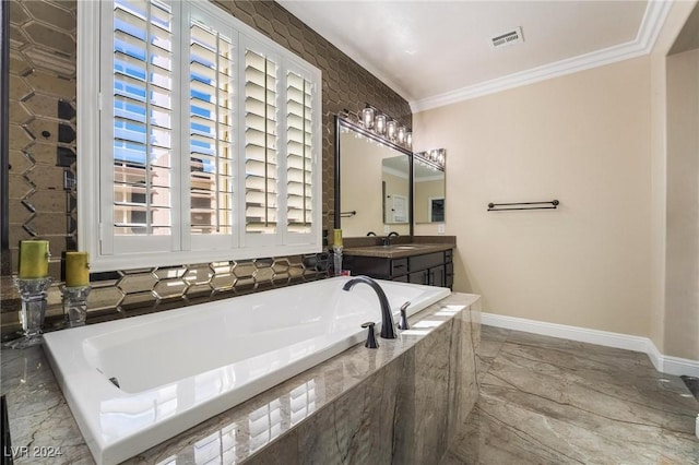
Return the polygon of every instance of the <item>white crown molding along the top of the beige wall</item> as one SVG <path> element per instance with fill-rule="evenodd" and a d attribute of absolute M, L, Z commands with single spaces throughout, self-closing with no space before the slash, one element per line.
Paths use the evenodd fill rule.
<path fill-rule="evenodd" d="M 455 91 L 446 92 L 433 97 L 411 100 L 413 114 L 425 111 L 431 108 L 455 104 L 471 98 L 482 97 L 488 94 L 533 84 L 566 74 L 628 60 L 631 58 L 648 55 L 653 49 L 655 40 L 665 23 L 665 19 L 673 4 L 673 0 L 649 0 L 645 13 L 639 27 L 636 39 L 626 44 L 580 55 L 544 64 L 530 70 L 520 71 L 502 78 L 497 78 L 483 83 L 470 85 Z"/>

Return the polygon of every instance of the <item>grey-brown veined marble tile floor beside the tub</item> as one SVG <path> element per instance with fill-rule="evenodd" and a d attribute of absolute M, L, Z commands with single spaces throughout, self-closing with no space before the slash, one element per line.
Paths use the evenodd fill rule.
<path fill-rule="evenodd" d="M 699 403 L 644 354 L 483 325 L 477 361 L 440 465 L 699 464 Z"/>

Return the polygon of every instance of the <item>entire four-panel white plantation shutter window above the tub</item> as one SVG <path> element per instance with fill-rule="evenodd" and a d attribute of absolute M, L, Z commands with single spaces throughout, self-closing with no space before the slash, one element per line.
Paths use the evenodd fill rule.
<path fill-rule="evenodd" d="M 99 194 L 81 196 L 79 240 L 93 270 L 319 251 L 320 71 L 212 2 L 82 11 L 79 186 Z"/>

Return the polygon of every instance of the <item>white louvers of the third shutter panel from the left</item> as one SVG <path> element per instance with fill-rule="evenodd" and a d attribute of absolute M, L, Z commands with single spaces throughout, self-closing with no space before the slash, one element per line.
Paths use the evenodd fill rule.
<path fill-rule="evenodd" d="M 245 230 L 275 234 L 277 223 L 277 64 L 245 51 Z"/>

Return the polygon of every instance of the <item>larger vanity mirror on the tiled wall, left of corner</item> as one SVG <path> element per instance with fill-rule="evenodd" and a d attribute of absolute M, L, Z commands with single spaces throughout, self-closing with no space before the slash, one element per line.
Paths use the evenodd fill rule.
<path fill-rule="evenodd" d="M 335 228 L 413 234 L 412 153 L 335 117 Z"/>

